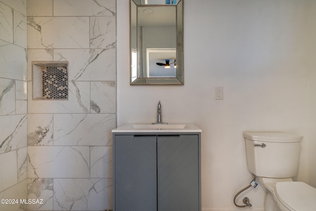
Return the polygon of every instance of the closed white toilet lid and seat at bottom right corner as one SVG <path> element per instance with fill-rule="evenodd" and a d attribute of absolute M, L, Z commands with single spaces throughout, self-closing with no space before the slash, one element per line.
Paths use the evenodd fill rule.
<path fill-rule="evenodd" d="M 304 182 L 276 182 L 276 197 L 290 211 L 316 208 L 316 188 Z"/>

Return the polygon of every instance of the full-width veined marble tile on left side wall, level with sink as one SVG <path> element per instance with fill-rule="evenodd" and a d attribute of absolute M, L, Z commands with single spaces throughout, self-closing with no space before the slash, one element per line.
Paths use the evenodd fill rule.
<path fill-rule="evenodd" d="M 0 116 L 0 153 L 26 147 L 26 134 L 27 115 Z"/>

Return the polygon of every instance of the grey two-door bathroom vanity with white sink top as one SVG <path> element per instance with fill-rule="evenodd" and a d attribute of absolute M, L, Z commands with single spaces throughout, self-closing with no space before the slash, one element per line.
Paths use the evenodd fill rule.
<path fill-rule="evenodd" d="M 112 132 L 115 211 L 201 211 L 198 127 L 127 124 Z"/>

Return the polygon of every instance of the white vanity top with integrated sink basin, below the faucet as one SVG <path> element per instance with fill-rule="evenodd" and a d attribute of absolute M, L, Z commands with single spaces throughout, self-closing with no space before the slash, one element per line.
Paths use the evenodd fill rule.
<path fill-rule="evenodd" d="M 112 132 L 201 132 L 201 129 L 192 123 L 129 123 L 112 130 Z"/>

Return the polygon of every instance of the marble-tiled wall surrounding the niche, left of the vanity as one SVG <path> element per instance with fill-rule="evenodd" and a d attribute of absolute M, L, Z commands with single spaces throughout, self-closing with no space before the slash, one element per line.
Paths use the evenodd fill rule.
<path fill-rule="evenodd" d="M 116 0 L 27 1 L 28 209 L 111 209 Z M 33 100 L 32 61 L 68 61 L 68 100 Z"/>

